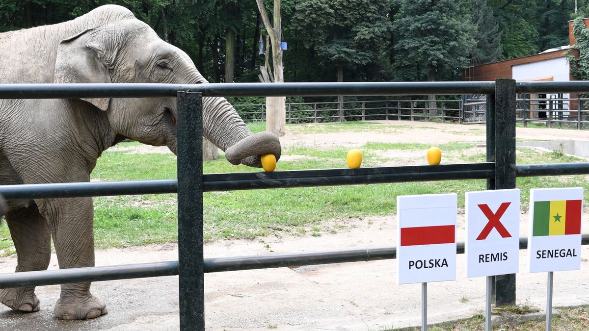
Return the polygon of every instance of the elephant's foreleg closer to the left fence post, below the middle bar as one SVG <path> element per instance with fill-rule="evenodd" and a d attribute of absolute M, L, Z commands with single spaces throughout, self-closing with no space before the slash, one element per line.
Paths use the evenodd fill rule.
<path fill-rule="evenodd" d="M 94 266 L 92 198 L 39 201 L 51 229 L 60 269 Z M 90 293 L 91 283 L 62 284 L 54 314 L 58 319 L 92 319 L 107 313 L 102 300 Z"/>

